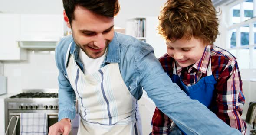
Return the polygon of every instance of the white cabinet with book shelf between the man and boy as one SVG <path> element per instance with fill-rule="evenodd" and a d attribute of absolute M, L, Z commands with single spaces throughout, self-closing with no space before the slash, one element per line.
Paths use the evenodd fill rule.
<path fill-rule="evenodd" d="M 166 44 L 164 38 L 158 34 L 158 17 L 136 17 L 126 21 L 125 34 L 147 42 L 154 48 L 154 54 L 157 58 L 164 55 Z"/>

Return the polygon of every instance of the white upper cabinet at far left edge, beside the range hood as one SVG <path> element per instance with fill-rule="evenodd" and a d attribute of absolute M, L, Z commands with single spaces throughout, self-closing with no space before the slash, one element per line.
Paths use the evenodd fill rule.
<path fill-rule="evenodd" d="M 20 15 L 0 14 L 0 60 L 26 60 L 26 51 L 16 39 L 20 35 Z"/>

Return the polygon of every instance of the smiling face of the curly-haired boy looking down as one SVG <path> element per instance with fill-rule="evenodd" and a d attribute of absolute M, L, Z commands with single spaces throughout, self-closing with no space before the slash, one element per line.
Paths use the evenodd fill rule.
<path fill-rule="evenodd" d="M 206 47 L 203 41 L 192 37 L 191 39 L 178 39 L 175 42 L 166 42 L 167 53 L 174 58 L 181 67 L 188 67 L 202 58 Z"/>

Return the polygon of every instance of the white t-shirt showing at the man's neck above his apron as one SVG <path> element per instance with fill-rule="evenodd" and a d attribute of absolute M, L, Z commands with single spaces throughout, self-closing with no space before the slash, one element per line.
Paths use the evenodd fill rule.
<path fill-rule="evenodd" d="M 107 49 L 99 58 L 89 58 L 84 51 L 80 48 L 79 50 L 79 58 L 82 61 L 82 64 L 84 65 L 84 74 L 92 74 L 95 71 L 98 71 L 100 69 L 100 66 L 102 62 L 105 59 L 105 56 L 107 54 Z"/>

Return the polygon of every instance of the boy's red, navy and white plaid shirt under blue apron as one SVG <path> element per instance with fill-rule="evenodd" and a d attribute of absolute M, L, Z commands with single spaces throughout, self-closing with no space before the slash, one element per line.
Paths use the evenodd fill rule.
<path fill-rule="evenodd" d="M 207 76 L 207 67 L 211 60 L 212 74 L 217 80 L 215 90 L 217 91 L 216 106 L 217 116 L 230 127 L 236 128 L 245 134 L 246 123 L 241 115 L 245 98 L 242 92 L 242 80 L 238 69 L 236 58 L 228 51 L 214 45 L 208 45 L 202 58 L 189 67 L 182 68 L 178 64 L 177 75 L 185 85 L 196 84 L 202 77 Z M 159 58 L 164 71 L 171 75 L 175 60 L 168 54 Z M 158 108 L 155 109 L 152 118 L 152 135 L 168 135 L 171 128 L 171 119 L 165 116 Z"/>

